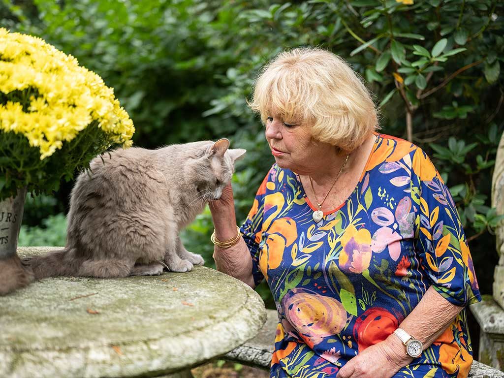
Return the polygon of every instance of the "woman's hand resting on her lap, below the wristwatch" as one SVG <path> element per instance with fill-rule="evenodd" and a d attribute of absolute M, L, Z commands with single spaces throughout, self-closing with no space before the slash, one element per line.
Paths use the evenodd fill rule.
<path fill-rule="evenodd" d="M 350 359 L 337 374 L 338 378 L 390 378 L 413 361 L 404 344 L 395 335 L 371 345 Z"/>

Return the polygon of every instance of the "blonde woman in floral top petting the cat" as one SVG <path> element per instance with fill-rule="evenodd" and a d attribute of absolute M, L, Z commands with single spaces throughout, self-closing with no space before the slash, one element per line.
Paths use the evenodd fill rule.
<path fill-rule="evenodd" d="M 376 132 L 368 91 L 325 50 L 278 55 L 250 106 L 276 163 L 238 233 L 231 186 L 212 202 L 212 239 L 220 271 L 270 286 L 271 376 L 466 377 L 463 308 L 481 298 L 429 158 Z"/>

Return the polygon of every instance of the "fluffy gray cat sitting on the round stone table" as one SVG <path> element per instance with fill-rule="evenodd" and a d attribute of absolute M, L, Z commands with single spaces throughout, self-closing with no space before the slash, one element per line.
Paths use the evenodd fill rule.
<path fill-rule="evenodd" d="M 245 150 L 221 139 L 157 150 L 118 149 L 93 159 L 72 190 L 67 245 L 23 263 L 35 278 L 158 275 L 204 263 L 179 232 L 231 180 Z"/>

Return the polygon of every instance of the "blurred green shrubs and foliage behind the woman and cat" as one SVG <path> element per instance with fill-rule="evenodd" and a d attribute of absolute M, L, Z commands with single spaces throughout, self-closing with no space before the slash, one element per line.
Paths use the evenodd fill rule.
<path fill-rule="evenodd" d="M 375 93 L 382 131 L 421 146 L 442 172 L 481 291 L 491 293 L 503 8 L 497 0 L 0 0 L 0 24 L 46 39 L 98 73 L 134 120 L 136 145 L 228 137 L 246 148 L 233 185 L 238 221 L 273 163 L 245 106 L 257 71 L 284 48 L 320 46 L 345 57 Z M 62 183 L 54 201 L 27 204 L 24 222 L 36 227 L 23 230 L 21 243 L 63 242 L 56 214 L 68 210 L 70 187 Z M 184 235 L 209 266 L 211 231 L 207 211 Z M 54 234 L 62 236 L 42 236 Z"/>

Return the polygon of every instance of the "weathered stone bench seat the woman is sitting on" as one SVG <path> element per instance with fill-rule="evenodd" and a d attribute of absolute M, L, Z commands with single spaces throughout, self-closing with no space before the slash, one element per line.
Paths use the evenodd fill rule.
<path fill-rule="evenodd" d="M 266 311 L 268 320 L 257 336 L 227 353 L 224 358 L 266 370 L 270 368 L 278 317 L 277 311 L 270 309 Z M 481 362 L 474 361 L 469 378 L 504 378 L 504 373 Z"/>

